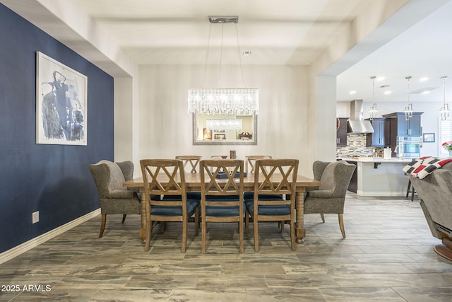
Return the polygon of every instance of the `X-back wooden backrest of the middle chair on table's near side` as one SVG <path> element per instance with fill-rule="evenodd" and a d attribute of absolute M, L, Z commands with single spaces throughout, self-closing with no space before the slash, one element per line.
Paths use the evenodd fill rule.
<path fill-rule="evenodd" d="M 203 160 L 200 167 L 201 199 L 205 199 L 206 195 L 243 195 L 244 170 L 242 160 Z M 235 178 L 237 175 L 239 178 Z"/>

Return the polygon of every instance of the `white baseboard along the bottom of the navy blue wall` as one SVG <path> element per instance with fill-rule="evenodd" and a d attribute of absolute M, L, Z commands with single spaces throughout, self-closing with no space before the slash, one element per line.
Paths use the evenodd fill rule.
<path fill-rule="evenodd" d="M 17 257 L 20 254 L 23 254 L 28 250 L 31 250 L 32 248 L 37 247 L 37 245 L 40 245 L 41 243 L 44 243 L 47 240 L 50 240 L 56 236 L 61 235 L 66 231 L 69 231 L 71 228 L 74 228 L 79 224 L 94 218 L 97 215 L 100 215 L 100 209 L 97 209 L 81 217 L 78 217 L 78 219 L 74 219 L 73 221 L 69 221 L 68 223 L 59 226 L 58 228 L 54 228 L 52 231 L 48 231 L 47 233 L 32 238 L 31 240 L 28 240 L 27 242 L 22 243 L 16 246 L 15 248 L 11 248 L 11 250 L 6 250 L 6 252 L 2 252 L 0 254 L 0 265 L 8 260 L 13 259 L 14 257 Z"/>

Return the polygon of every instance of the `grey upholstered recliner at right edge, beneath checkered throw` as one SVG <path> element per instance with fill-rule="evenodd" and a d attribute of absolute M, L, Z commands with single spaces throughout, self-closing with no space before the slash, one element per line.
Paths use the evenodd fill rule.
<path fill-rule="evenodd" d="M 410 175 L 410 180 L 432 235 L 442 240 L 435 252 L 452 261 L 452 162 L 422 179 Z"/>

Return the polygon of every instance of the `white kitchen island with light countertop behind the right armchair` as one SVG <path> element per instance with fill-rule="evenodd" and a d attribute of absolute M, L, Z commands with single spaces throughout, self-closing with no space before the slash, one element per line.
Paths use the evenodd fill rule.
<path fill-rule="evenodd" d="M 359 196 L 405 196 L 408 176 L 402 169 L 412 161 L 412 158 L 338 158 L 341 159 L 357 165 L 348 190 Z"/>

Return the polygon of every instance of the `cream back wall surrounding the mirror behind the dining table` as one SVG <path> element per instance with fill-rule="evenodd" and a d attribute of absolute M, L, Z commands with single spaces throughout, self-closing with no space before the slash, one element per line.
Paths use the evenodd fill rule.
<path fill-rule="evenodd" d="M 257 145 L 193 145 L 187 89 L 218 87 L 218 66 L 147 65 L 139 71 L 138 158 L 229 154 L 299 158 L 299 173 L 311 175 L 314 131 L 308 122 L 309 81 L 305 66 L 222 66 L 220 86 L 259 88 Z M 332 108 L 335 110 L 335 108 Z"/>

